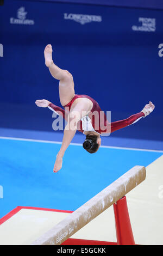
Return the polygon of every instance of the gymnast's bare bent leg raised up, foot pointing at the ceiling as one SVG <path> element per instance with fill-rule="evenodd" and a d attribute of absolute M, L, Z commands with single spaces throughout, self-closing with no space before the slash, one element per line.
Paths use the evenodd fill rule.
<path fill-rule="evenodd" d="M 67 70 L 60 69 L 54 64 L 52 59 L 52 46 L 45 47 L 44 56 L 45 64 L 48 67 L 51 75 L 59 80 L 59 97 L 62 106 L 67 105 L 74 97 L 74 82 L 73 77 Z"/>

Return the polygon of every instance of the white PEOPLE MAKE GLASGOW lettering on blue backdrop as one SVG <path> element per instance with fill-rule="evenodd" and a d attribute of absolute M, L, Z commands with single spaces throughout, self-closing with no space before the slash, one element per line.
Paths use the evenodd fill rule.
<path fill-rule="evenodd" d="M 133 26 L 132 27 L 133 31 L 142 31 L 142 32 L 156 31 L 156 19 L 139 17 L 139 22 L 141 23 L 141 26 Z"/>

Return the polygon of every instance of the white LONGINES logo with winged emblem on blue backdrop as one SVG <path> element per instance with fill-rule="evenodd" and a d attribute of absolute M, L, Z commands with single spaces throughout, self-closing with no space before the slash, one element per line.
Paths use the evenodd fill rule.
<path fill-rule="evenodd" d="M 86 15 L 86 14 L 64 13 L 64 19 L 79 22 L 81 25 L 84 25 L 84 24 L 90 23 L 90 22 L 102 22 L 102 16 Z"/>

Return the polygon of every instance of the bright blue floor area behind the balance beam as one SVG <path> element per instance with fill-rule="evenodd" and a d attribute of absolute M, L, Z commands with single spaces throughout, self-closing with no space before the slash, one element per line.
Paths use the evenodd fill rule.
<path fill-rule="evenodd" d="M 162 153 L 101 148 L 88 154 L 70 145 L 62 169 L 53 173 L 60 144 L 0 139 L 0 217 L 16 206 L 76 210 L 135 165 L 147 166 Z"/>

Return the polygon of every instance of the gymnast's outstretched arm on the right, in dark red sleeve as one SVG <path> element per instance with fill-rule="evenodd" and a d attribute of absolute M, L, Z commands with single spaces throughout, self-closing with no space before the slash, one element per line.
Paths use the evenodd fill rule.
<path fill-rule="evenodd" d="M 142 117 L 146 117 L 148 114 L 150 114 L 153 109 L 154 109 L 154 105 L 151 101 L 149 101 L 149 104 L 147 104 L 141 112 L 131 115 L 129 118 L 124 119 L 124 120 L 120 120 L 120 121 L 116 121 L 111 123 L 111 132 L 120 130 L 124 127 L 127 127 L 131 124 L 136 123 L 137 121 L 139 121 Z"/>

